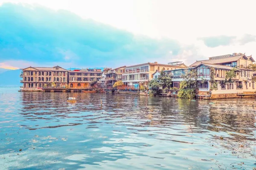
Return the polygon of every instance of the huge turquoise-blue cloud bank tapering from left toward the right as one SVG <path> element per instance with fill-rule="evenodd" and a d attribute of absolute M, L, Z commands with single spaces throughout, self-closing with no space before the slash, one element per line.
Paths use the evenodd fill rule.
<path fill-rule="evenodd" d="M 170 51 L 169 57 L 182 52 L 177 40 L 134 35 L 94 20 L 84 20 L 71 12 L 39 5 L 4 3 L 0 6 L 0 16 L 2 63 L 22 60 L 28 61 L 26 66 L 32 62 L 115 67 L 152 62 Z"/>

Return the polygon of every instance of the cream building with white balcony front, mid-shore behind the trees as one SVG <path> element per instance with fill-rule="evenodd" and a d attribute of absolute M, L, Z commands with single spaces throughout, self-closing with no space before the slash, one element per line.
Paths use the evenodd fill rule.
<path fill-rule="evenodd" d="M 168 64 L 143 63 L 133 66 L 126 66 L 125 72 L 122 74 L 122 81 L 125 85 L 138 85 L 142 82 L 148 82 L 153 79 L 153 73 L 161 70 L 173 70 L 179 68 L 187 68 L 184 63 L 173 62 Z"/>

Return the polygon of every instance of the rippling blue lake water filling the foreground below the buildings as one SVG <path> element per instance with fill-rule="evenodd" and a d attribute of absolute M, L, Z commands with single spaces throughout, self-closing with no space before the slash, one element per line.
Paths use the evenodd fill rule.
<path fill-rule="evenodd" d="M 256 144 L 255 98 L 209 104 L 125 94 L 17 90 L 0 88 L 1 170 L 256 167 L 250 149 Z M 77 102 L 67 103 L 68 97 L 76 97 Z"/>

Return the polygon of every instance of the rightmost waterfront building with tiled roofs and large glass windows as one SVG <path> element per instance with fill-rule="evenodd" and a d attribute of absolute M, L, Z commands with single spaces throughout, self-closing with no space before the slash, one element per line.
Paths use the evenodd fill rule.
<path fill-rule="evenodd" d="M 172 77 L 172 87 L 179 88 L 180 81 L 183 81 L 181 75 L 196 69 L 198 81 L 198 95 L 209 96 L 212 98 L 237 97 L 238 93 L 255 93 L 255 82 L 253 70 L 248 69 L 254 59 L 252 56 L 233 53 L 233 55 L 222 55 L 211 57 L 209 60 L 196 61 L 189 68 L 166 71 Z M 236 68 L 236 77 L 232 81 L 226 81 L 226 73 Z M 211 69 L 214 71 L 214 79 L 218 83 L 217 89 L 211 89 Z"/>

